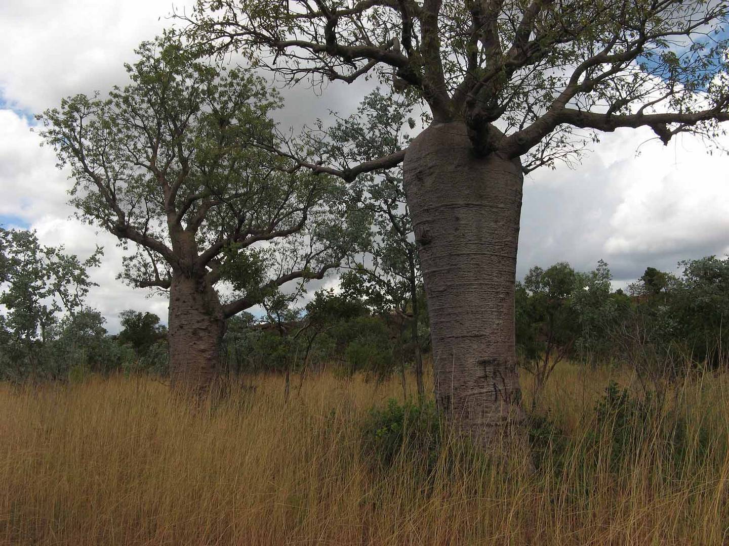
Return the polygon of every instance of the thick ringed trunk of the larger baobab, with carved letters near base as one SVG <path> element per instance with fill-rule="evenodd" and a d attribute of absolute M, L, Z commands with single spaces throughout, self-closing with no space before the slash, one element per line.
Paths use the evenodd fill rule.
<path fill-rule="evenodd" d="M 434 124 L 405 154 L 405 193 L 425 282 L 437 403 L 488 444 L 521 422 L 514 285 L 523 175 L 476 157 L 461 122 Z"/>

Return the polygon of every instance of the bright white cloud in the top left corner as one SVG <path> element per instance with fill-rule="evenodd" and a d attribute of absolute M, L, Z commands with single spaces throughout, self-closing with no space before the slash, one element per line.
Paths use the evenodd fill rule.
<path fill-rule="evenodd" d="M 181 9 L 186 4 L 192 1 L 175 1 Z M 172 7 L 171 0 L 1 2 L 5 100 L 37 113 L 66 95 L 108 89 L 120 81 L 133 48 L 171 24 L 165 17 Z"/>

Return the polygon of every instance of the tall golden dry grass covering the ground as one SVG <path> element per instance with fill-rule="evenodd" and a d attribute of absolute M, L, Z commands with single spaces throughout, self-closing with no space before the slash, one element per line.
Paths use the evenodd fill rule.
<path fill-rule="evenodd" d="M 0 386 L 0 543 L 728 543 L 729 375 L 691 376 L 660 404 L 606 398 L 611 380 L 635 383 L 558 367 L 533 464 L 417 435 L 383 457 L 397 408 L 370 408 L 402 399 L 398 376 L 294 378 L 287 402 L 283 377 L 257 376 L 197 411 L 145 376 Z"/>

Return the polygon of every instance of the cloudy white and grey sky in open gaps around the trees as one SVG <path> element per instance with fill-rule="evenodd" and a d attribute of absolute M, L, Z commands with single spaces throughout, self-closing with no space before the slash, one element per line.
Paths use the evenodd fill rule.
<path fill-rule="evenodd" d="M 175 1 L 179 9 L 186 4 Z M 170 0 L 0 2 L 0 224 L 36 229 L 44 244 L 66 245 L 81 258 L 103 245 L 89 304 L 112 332 L 122 310 L 166 317 L 166 301 L 114 279 L 121 263 L 115 238 L 71 217 L 70 182 L 52 151 L 39 146 L 32 116 L 66 95 L 125 83 L 122 63 L 133 60 L 136 44 L 170 24 L 171 9 Z M 321 96 L 287 91 L 279 119 L 300 125 L 330 108 L 348 113 L 362 92 L 361 84 L 332 85 Z M 672 271 L 682 258 L 729 252 L 729 157 L 706 154 L 689 136 L 668 146 L 651 138 L 642 130 L 602 135 L 576 169 L 538 170 L 527 178 L 520 276 L 532 265 L 569 261 L 592 269 L 604 259 L 622 285 L 646 266 Z"/>

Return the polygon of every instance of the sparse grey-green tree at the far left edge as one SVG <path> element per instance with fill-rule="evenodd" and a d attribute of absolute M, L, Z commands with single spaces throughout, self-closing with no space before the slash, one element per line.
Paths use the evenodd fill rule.
<path fill-rule="evenodd" d="M 33 379 L 39 376 L 37 345 L 50 337 L 61 313 L 82 312 L 90 287 L 89 269 L 98 266 L 101 248 L 85 261 L 66 254 L 61 247 L 41 245 L 35 232 L 0 228 L 0 320 L 3 350 L 15 360 L 17 376 L 23 364 L 30 365 Z"/>

